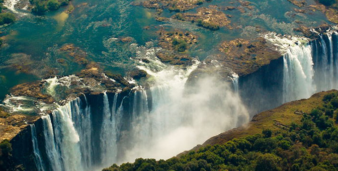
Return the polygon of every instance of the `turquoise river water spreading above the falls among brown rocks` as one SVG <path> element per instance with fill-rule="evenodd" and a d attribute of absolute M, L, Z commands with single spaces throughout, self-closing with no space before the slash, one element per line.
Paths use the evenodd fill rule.
<path fill-rule="evenodd" d="M 320 12 L 313 14 L 296 14 L 296 8 L 286 0 L 251 0 L 255 9 L 241 14 L 237 10 L 225 11 L 232 15 L 231 25 L 234 30 L 221 28 L 219 31 L 209 31 L 197 27 L 190 22 L 154 20 L 155 10 L 133 6 L 133 1 L 95 1 L 72 0 L 74 11 L 67 15 L 63 13 L 67 7 L 43 17 L 18 15 L 18 21 L 2 28 L 5 45 L 0 49 L 0 66 L 8 68 L 14 63 L 20 63 L 31 68 L 32 74 L 5 69 L 1 75 L 6 82 L 0 84 L 0 99 L 8 94 L 8 90 L 18 83 L 41 79 L 49 72 L 58 75 L 68 75 L 78 72 L 83 66 L 72 61 L 72 58 L 58 49 L 64 44 L 74 44 L 88 53 L 90 61 L 98 62 L 104 69 L 124 74 L 135 67 L 130 58 L 135 56 L 130 49 L 131 43 L 144 45 L 157 38 L 156 31 L 160 27 L 168 29 L 179 28 L 198 35 L 199 43 L 188 54 L 198 56 L 201 60 L 214 53 L 218 53 L 218 44 L 234 38 L 256 37 L 256 27 L 281 34 L 297 34 L 292 31 L 297 27 L 295 21 L 302 21 L 306 26 L 318 26 L 327 22 Z M 83 4 L 86 3 L 86 4 Z M 314 1 L 308 1 L 314 4 Z M 229 1 L 214 0 L 205 3 L 209 5 L 237 6 Z M 187 13 L 194 13 L 196 9 Z M 163 12 L 163 16 L 170 17 L 175 13 Z M 293 16 L 293 17 L 291 17 Z M 143 29 L 149 26 L 149 29 Z M 132 37 L 129 43 L 123 43 L 115 38 Z M 56 62 L 65 59 L 65 64 Z"/>

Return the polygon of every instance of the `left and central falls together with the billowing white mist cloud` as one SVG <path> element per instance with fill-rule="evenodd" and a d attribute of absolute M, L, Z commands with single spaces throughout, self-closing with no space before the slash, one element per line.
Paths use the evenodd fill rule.
<path fill-rule="evenodd" d="M 139 67 L 152 75 L 152 87 L 82 96 L 43 116 L 44 146 L 33 148 L 45 157 L 35 155 L 37 168 L 93 170 L 137 157 L 169 158 L 248 121 L 228 83 L 206 77 L 188 91 L 185 82 L 198 62 L 188 69 L 166 66 L 155 51 L 138 51 L 150 61 Z"/>

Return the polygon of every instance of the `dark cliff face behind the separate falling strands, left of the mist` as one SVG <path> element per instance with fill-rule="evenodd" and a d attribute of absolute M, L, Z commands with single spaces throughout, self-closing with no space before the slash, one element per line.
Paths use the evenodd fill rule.
<path fill-rule="evenodd" d="M 145 99 L 145 101 L 149 100 L 150 103 L 151 95 L 148 94 L 147 97 L 148 99 Z M 55 170 L 58 167 L 55 164 L 62 163 L 61 167 L 67 166 L 70 169 L 79 166 L 73 164 L 76 161 L 82 162 L 82 160 L 85 160 L 83 164 L 88 164 L 88 166 L 81 165 L 81 168 L 96 167 L 103 164 L 105 159 L 103 156 L 107 152 L 106 149 L 103 149 L 104 131 L 107 131 L 108 135 L 115 133 L 115 137 L 109 138 L 112 143 L 121 147 L 118 148 L 118 151 L 113 151 L 116 154 L 111 155 L 124 157 L 124 152 L 132 144 L 129 141 L 132 135 L 127 132 L 132 130 L 132 113 L 135 110 L 133 107 L 138 108 L 139 105 L 134 104 L 136 102 L 134 98 L 139 99 L 141 97 L 138 93 L 131 91 L 124 91 L 119 94 L 82 94 L 77 99 L 66 103 L 65 106 L 59 107 L 56 111 L 40 116 L 40 119 L 32 122 L 31 125 L 26 124 L 20 132 L 11 138 L 14 165 L 22 165 L 26 170 L 39 170 L 38 167 L 44 170 Z M 148 107 L 151 108 L 151 105 Z M 107 115 L 111 116 L 107 118 Z M 73 124 L 68 125 L 69 121 L 65 120 L 67 117 L 72 119 L 71 123 Z M 105 130 L 105 125 L 115 122 L 116 126 Z M 74 130 L 76 130 L 76 133 L 71 132 Z M 115 139 L 114 142 L 113 139 Z M 109 141 L 108 137 L 105 140 Z M 69 152 L 68 150 L 73 153 L 74 157 L 77 157 L 77 159 L 72 159 L 73 162 L 65 161 L 63 158 L 70 156 L 70 154 L 65 154 Z M 76 150 L 79 153 L 76 153 Z M 82 156 L 82 159 L 80 156 Z M 88 158 L 86 158 L 87 156 Z M 40 160 L 37 160 L 37 158 Z"/>

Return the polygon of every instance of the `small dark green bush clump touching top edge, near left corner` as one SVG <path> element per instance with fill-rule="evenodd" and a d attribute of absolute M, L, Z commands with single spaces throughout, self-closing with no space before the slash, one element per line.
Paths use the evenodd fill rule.
<path fill-rule="evenodd" d="M 33 5 L 32 13 L 43 15 L 47 11 L 55 11 L 61 6 L 69 4 L 69 0 L 30 0 Z"/>

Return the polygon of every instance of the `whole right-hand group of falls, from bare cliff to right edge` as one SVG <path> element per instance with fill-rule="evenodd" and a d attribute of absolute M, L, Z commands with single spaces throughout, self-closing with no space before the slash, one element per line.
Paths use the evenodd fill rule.
<path fill-rule="evenodd" d="M 314 41 L 274 34 L 266 36 L 284 53 L 283 103 L 338 88 L 338 34 L 327 31 L 318 35 L 319 39 Z"/>

